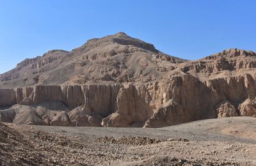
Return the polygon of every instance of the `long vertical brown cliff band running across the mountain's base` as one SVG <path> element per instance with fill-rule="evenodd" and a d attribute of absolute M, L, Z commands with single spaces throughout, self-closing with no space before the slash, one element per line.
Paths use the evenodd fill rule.
<path fill-rule="evenodd" d="M 255 77 L 248 74 L 207 82 L 184 74 L 172 77 L 168 82 L 145 85 L 0 89 L 0 107 L 14 105 L 0 111 L 0 119 L 6 122 L 20 119 L 19 105 L 28 105 L 30 112 L 36 112 L 29 114 L 27 119 L 36 116 L 45 124 L 64 126 L 161 127 L 215 117 L 256 116 L 255 88 Z M 36 106 L 52 101 L 63 103 L 68 110 Z M 47 109 L 49 114 L 38 116 L 42 109 Z M 4 120 L 6 117 L 10 118 Z M 26 120 L 23 123 L 42 124 L 42 121 Z"/>

